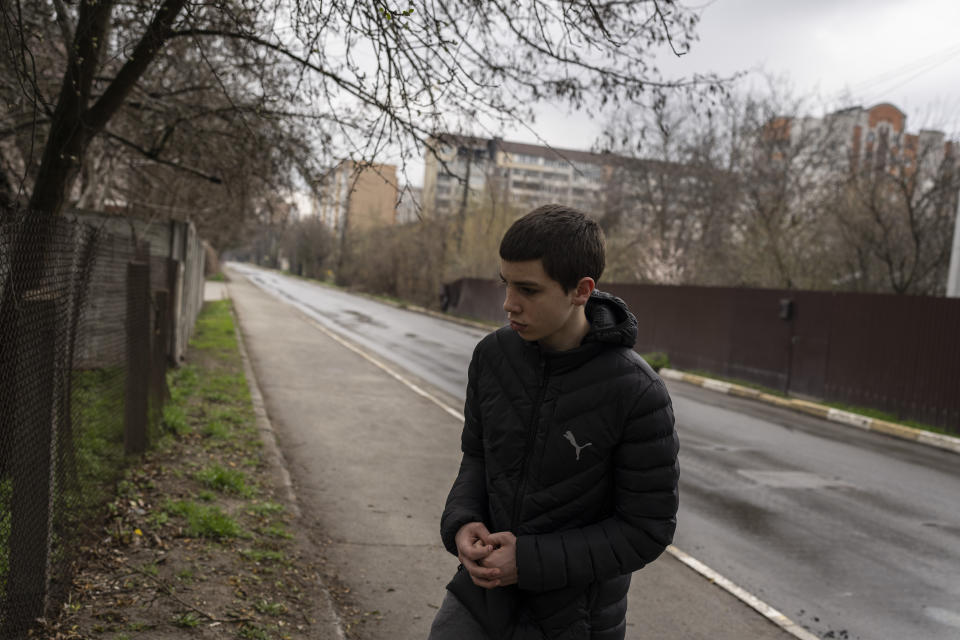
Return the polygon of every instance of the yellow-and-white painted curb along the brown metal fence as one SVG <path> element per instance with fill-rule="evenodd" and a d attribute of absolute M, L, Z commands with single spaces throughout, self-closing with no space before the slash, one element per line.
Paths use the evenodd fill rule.
<path fill-rule="evenodd" d="M 687 382 L 698 387 L 703 387 L 704 389 L 710 389 L 711 391 L 717 391 L 719 393 L 726 393 L 727 395 L 731 396 L 759 400 L 761 402 L 766 402 L 767 404 L 776 405 L 785 409 L 792 409 L 793 411 L 799 411 L 800 413 L 805 413 L 816 418 L 822 418 L 824 420 L 829 420 L 830 422 L 842 424 L 846 427 L 855 427 L 864 431 L 882 433 L 888 436 L 893 436 L 894 438 L 900 438 L 901 440 L 919 442 L 920 444 L 924 444 L 929 447 L 935 447 L 937 449 L 943 449 L 944 451 L 960 454 L 960 438 L 955 438 L 953 436 L 934 433 L 932 431 L 924 431 L 922 429 L 914 429 L 913 427 L 905 427 L 901 424 L 887 422 L 886 420 L 878 420 L 877 418 L 870 418 L 860 415 L 859 413 L 851 413 L 850 411 L 841 411 L 840 409 L 834 409 L 833 407 L 817 404 L 816 402 L 809 402 L 807 400 L 781 398 L 779 396 L 757 391 L 756 389 L 751 389 L 749 387 L 732 384 L 730 382 L 723 382 L 722 380 L 705 378 L 692 373 L 684 373 L 683 371 L 677 371 L 676 369 L 661 369 L 660 377 L 668 380 Z"/>

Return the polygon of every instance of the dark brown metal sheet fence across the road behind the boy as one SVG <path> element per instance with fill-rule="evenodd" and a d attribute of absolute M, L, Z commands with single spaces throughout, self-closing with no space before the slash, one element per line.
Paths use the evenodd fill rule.
<path fill-rule="evenodd" d="M 960 300 L 779 289 L 609 284 L 640 352 L 799 397 L 960 433 Z M 453 313 L 504 321 L 493 280 L 446 285 Z"/>

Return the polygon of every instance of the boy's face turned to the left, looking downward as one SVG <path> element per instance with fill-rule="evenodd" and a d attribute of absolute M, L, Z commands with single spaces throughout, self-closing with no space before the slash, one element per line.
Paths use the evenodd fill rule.
<path fill-rule="evenodd" d="M 578 314 L 590 297 L 592 286 L 578 286 L 569 292 L 547 275 L 541 260 L 500 261 L 500 279 L 506 287 L 503 310 L 510 327 L 524 340 L 538 341 L 549 349 L 560 350 L 581 322 Z M 593 284 L 590 278 L 584 278 Z"/>

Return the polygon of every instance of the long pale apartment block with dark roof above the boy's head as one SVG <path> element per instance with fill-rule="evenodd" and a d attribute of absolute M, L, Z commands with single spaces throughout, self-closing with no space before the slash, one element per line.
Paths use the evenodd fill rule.
<path fill-rule="evenodd" d="M 443 134 L 429 141 L 423 203 L 427 215 L 459 212 L 471 197 L 533 208 L 561 202 L 599 214 L 614 156 L 574 149 Z"/>

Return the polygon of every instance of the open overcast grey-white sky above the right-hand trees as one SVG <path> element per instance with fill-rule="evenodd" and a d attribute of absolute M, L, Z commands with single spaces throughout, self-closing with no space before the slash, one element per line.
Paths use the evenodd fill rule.
<path fill-rule="evenodd" d="M 700 41 L 680 58 L 660 56 L 667 75 L 767 72 L 811 105 L 891 102 L 907 128 L 960 127 L 960 0 L 713 0 L 700 8 Z M 849 100 L 842 106 L 847 106 Z M 822 108 L 820 109 L 822 111 Z M 817 115 L 813 113 L 811 115 Z M 551 107 L 533 129 L 554 146 L 588 148 L 601 122 Z M 522 128 L 507 139 L 536 142 Z"/>

